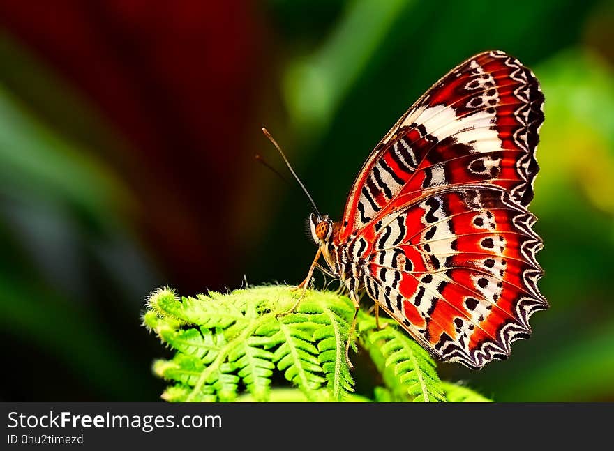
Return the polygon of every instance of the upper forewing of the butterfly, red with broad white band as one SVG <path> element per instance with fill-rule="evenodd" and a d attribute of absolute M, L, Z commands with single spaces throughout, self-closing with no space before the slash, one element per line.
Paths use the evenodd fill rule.
<path fill-rule="evenodd" d="M 338 239 L 414 197 L 458 183 L 494 183 L 532 199 L 544 95 L 530 70 L 502 52 L 451 70 L 377 145 L 348 197 Z M 382 211 L 384 210 L 384 211 Z"/>

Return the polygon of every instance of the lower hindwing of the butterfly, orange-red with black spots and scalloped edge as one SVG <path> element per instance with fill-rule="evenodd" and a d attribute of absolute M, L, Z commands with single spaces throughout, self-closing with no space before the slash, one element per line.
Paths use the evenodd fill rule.
<path fill-rule="evenodd" d="M 439 358 L 470 367 L 505 358 L 547 307 L 531 221 L 500 188 L 428 197 L 374 236 L 366 290 Z"/>

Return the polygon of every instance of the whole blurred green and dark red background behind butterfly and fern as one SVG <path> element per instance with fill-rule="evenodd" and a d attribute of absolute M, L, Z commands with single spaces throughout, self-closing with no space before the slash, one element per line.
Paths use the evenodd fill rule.
<path fill-rule="evenodd" d="M 205 3 L 0 3 L 1 400 L 158 399 L 150 291 L 295 284 L 313 258 L 303 194 L 253 160 L 283 170 L 260 127 L 338 218 L 398 116 L 502 49 L 546 95 L 551 309 L 509 360 L 440 374 L 498 401 L 614 401 L 613 2 Z"/>

